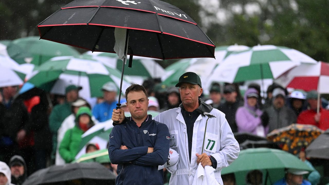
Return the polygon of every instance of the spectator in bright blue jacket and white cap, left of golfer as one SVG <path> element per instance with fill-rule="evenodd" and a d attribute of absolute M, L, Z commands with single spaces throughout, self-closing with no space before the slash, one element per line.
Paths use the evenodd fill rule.
<path fill-rule="evenodd" d="M 115 101 L 118 88 L 114 82 L 107 82 L 102 87 L 104 102 L 95 105 L 92 115 L 99 121 L 104 122 L 112 118 L 112 111 L 116 108 Z"/>

